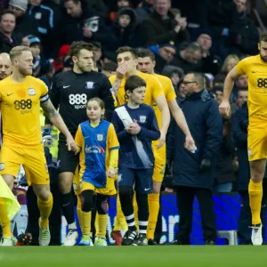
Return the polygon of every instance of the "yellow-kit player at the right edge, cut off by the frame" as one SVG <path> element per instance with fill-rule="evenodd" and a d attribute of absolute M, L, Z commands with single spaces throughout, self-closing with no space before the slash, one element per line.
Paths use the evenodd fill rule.
<path fill-rule="evenodd" d="M 248 81 L 248 136 L 247 155 L 251 179 L 248 185 L 252 214 L 253 245 L 263 244 L 261 206 L 263 198 L 263 174 L 267 158 L 267 32 L 263 32 L 258 44 L 259 54 L 239 61 L 224 81 L 223 101 L 219 107 L 223 116 L 230 116 L 230 97 L 234 81 L 247 75 Z"/>

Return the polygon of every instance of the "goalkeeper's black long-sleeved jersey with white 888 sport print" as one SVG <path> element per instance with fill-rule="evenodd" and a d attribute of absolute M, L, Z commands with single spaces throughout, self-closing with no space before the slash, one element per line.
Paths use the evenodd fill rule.
<path fill-rule="evenodd" d="M 100 72 L 91 71 L 77 74 L 72 70 L 61 72 L 53 78 L 50 99 L 60 114 L 69 132 L 77 132 L 79 124 L 88 120 L 86 103 L 93 97 L 99 97 L 105 103 L 105 117 L 111 120 L 114 110 L 114 99 L 110 93 L 111 85 L 108 77 Z M 49 123 L 50 124 L 50 123 Z M 60 140 L 65 139 L 60 134 Z"/>

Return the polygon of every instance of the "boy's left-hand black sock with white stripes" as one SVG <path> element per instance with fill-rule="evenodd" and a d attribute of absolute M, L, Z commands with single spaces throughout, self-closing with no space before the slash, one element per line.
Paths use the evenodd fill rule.
<path fill-rule="evenodd" d="M 133 193 L 132 194 L 120 194 L 119 199 L 121 204 L 121 209 L 125 215 L 126 223 L 128 224 L 128 229 L 131 231 L 136 230 L 134 222 L 134 206 L 133 206 Z"/>

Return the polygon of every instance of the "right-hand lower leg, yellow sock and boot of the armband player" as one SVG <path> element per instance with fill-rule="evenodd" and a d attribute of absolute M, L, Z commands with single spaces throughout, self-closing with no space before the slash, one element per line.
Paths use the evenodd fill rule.
<path fill-rule="evenodd" d="M 50 243 L 50 231 L 48 218 L 53 208 L 53 196 L 49 184 L 32 184 L 36 193 L 37 204 L 41 214 L 39 219 L 39 245 L 48 246 Z"/>

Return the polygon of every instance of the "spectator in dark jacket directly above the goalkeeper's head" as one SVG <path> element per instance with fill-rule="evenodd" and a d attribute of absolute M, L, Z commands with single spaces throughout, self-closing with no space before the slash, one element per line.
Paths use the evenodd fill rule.
<path fill-rule="evenodd" d="M 60 44 L 83 40 L 100 42 L 104 46 L 112 40 L 104 20 L 90 8 L 88 2 L 64 0 L 64 7 L 67 13 L 64 13 L 58 28 Z"/>

